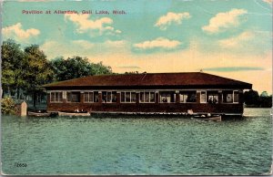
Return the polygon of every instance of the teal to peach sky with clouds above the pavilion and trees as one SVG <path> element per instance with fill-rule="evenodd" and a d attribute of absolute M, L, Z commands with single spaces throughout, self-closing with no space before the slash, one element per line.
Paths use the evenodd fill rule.
<path fill-rule="evenodd" d="M 2 8 L 2 39 L 39 45 L 48 60 L 87 57 L 116 73 L 202 70 L 272 94 L 272 0 L 17 0 Z"/>

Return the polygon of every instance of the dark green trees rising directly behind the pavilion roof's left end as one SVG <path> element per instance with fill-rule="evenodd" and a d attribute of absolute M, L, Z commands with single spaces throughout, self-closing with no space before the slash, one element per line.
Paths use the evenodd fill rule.
<path fill-rule="evenodd" d="M 51 66 L 55 73 L 55 80 L 67 80 L 81 78 L 98 74 L 111 74 L 112 69 L 106 67 L 102 62 L 90 63 L 86 57 L 57 57 L 51 61 Z"/>

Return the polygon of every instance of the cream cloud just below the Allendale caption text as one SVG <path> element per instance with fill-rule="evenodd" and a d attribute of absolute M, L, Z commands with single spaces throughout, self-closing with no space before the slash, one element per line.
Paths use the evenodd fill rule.
<path fill-rule="evenodd" d="M 65 19 L 70 20 L 71 22 L 75 23 L 77 26 L 76 32 L 77 33 L 86 33 L 92 32 L 91 35 L 94 35 L 94 31 L 98 32 L 99 36 L 102 36 L 105 33 L 110 34 L 119 34 L 121 33 L 120 30 L 115 30 L 113 26 L 113 20 L 109 17 L 102 17 L 96 20 L 89 19 L 89 15 L 76 15 L 76 14 L 66 14 Z"/>

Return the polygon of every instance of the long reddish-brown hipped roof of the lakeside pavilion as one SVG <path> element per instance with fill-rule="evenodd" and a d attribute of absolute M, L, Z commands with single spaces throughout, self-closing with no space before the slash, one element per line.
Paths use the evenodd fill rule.
<path fill-rule="evenodd" d="M 251 89 L 252 85 L 202 72 L 101 75 L 46 84 L 45 89 L 81 87 L 210 87 Z"/>

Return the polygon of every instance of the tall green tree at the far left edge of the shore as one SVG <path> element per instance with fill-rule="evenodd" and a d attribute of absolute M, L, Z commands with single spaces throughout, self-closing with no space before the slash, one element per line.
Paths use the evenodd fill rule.
<path fill-rule="evenodd" d="M 10 95 L 10 92 L 24 88 L 25 80 L 23 78 L 25 66 L 25 54 L 20 45 L 14 40 L 7 39 L 2 45 L 2 86 L 4 92 Z"/>

